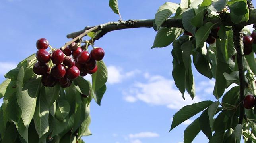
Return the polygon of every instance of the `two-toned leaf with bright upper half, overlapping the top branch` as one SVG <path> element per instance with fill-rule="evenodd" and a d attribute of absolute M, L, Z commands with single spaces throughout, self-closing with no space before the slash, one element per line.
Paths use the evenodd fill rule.
<path fill-rule="evenodd" d="M 166 2 L 165 4 L 159 7 L 157 13 L 155 14 L 155 24 L 158 30 L 165 22 L 165 20 L 176 12 L 178 7 L 180 7 L 180 5 L 172 2 Z"/>

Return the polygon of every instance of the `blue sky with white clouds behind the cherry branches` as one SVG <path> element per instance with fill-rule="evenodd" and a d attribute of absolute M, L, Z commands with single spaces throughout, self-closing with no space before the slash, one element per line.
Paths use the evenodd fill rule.
<path fill-rule="evenodd" d="M 124 20 L 153 19 L 165 2 L 119 0 L 119 8 Z M 108 0 L 1 0 L 0 11 L 0 82 L 8 70 L 37 51 L 37 39 L 47 38 L 51 46 L 61 47 L 69 41 L 66 34 L 119 18 Z M 109 80 L 101 107 L 91 102 L 93 135 L 83 138 L 86 143 L 183 142 L 183 131 L 192 120 L 168 133 L 173 115 L 184 105 L 214 100 L 214 81 L 195 69 L 196 98 L 182 99 L 171 76 L 172 46 L 150 49 L 155 34 L 153 28 L 119 30 L 95 42 L 105 50 Z M 208 142 L 200 132 L 194 143 L 202 141 Z"/>

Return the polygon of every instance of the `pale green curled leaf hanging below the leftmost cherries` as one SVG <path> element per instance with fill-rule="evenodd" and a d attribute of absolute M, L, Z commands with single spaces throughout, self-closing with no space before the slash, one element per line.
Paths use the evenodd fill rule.
<path fill-rule="evenodd" d="M 24 67 L 22 66 L 18 74 L 16 88 L 17 102 L 22 111 L 21 117 L 24 125 L 28 128 L 35 112 L 37 94 L 41 88 L 41 80 L 31 79 L 23 87 L 24 71 Z"/>

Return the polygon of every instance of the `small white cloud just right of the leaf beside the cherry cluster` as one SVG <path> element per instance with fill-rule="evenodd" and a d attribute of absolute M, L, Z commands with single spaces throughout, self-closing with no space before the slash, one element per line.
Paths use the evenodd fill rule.
<path fill-rule="evenodd" d="M 135 74 L 140 73 L 140 70 L 133 70 L 129 72 L 124 72 L 122 68 L 116 66 L 108 66 L 108 81 L 107 83 L 121 83 L 124 79 L 133 77 Z"/>

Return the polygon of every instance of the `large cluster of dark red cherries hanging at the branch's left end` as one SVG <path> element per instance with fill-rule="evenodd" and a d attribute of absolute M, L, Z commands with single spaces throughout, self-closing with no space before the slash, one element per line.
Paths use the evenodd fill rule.
<path fill-rule="evenodd" d="M 95 73 L 96 60 L 102 60 L 105 55 L 102 48 L 95 48 L 89 53 L 83 51 L 75 42 L 64 49 L 51 48 L 53 52 L 49 53 L 45 50 L 49 47 L 49 42 L 45 38 L 37 40 L 36 47 L 38 62 L 34 64 L 33 71 L 37 75 L 42 75 L 41 81 L 46 87 L 54 87 L 59 83 L 62 88 L 66 88 L 79 75 Z M 47 64 L 50 60 L 54 64 L 52 68 Z"/>

